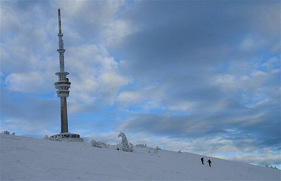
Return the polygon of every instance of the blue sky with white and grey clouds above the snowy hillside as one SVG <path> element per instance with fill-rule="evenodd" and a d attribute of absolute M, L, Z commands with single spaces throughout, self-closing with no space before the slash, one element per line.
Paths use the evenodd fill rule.
<path fill-rule="evenodd" d="M 1 1 L 1 131 L 60 132 L 58 8 L 70 132 L 280 168 L 279 1 Z"/>

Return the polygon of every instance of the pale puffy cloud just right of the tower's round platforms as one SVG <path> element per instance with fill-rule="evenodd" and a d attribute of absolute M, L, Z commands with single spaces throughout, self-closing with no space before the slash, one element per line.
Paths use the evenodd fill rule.
<path fill-rule="evenodd" d="M 131 81 L 121 74 L 122 65 L 103 46 L 83 45 L 67 51 L 71 98 L 77 103 L 113 104 L 118 91 Z"/>

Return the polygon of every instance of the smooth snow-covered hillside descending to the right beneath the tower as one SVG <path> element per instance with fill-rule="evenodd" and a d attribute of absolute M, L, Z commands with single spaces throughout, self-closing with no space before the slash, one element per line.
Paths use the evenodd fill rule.
<path fill-rule="evenodd" d="M 0 134 L 1 180 L 280 180 L 280 170 L 201 155 L 134 152 Z"/>

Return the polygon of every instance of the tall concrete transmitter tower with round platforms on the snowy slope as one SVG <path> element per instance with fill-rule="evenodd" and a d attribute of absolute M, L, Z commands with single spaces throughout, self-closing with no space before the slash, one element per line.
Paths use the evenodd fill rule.
<path fill-rule="evenodd" d="M 56 73 L 56 75 L 59 77 L 59 81 L 55 82 L 55 88 L 57 90 L 57 95 L 61 100 L 61 132 L 60 134 L 52 135 L 50 137 L 56 137 L 61 136 L 64 138 L 70 138 L 73 141 L 83 141 L 82 138 L 80 138 L 79 134 L 75 133 L 69 133 L 68 132 L 68 120 L 67 120 L 67 103 L 66 98 L 69 96 L 69 88 L 71 82 L 69 82 L 69 79 L 66 77 L 69 75 L 68 72 L 64 71 L 64 43 L 62 40 L 63 33 L 61 31 L 61 10 L 58 9 L 58 18 L 59 18 L 59 49 L 57 50 L 59 52 L 59 59 L 60 59 L 60 71 Z"/>

